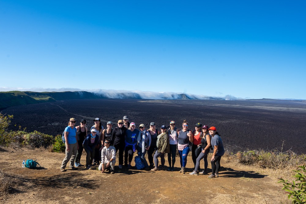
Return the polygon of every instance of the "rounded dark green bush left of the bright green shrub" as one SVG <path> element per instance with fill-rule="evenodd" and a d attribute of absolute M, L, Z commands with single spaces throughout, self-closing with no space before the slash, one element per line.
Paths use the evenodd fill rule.
<path fill-rule="evenodd" d="M 52 135 L 47 135 L 38 131 L 31 132 L 26 137 L 27 143 L 32 148 L 39 148 L 44 147 L 47 148 L 48 146 L 54 143 L 54 139 Z"/>

